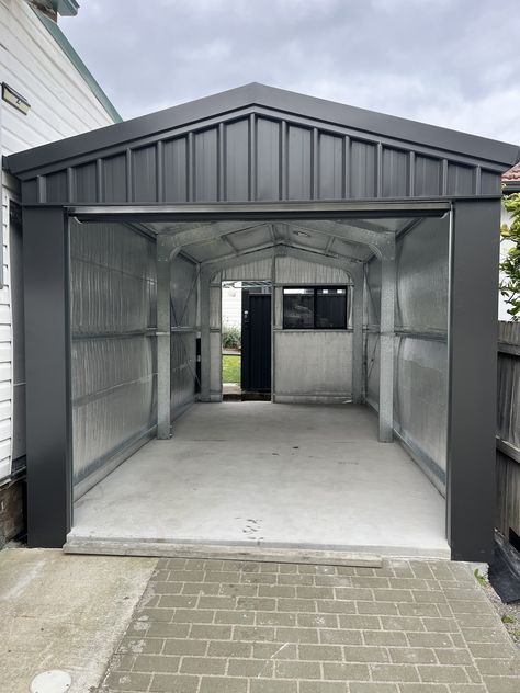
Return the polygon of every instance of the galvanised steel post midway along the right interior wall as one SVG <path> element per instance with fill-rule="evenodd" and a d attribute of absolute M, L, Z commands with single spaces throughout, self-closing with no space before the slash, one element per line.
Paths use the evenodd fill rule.
<path fill-rule="evenodd" d="M 394 440 L 395 239 L 381 259 L 380 442 Z"/>

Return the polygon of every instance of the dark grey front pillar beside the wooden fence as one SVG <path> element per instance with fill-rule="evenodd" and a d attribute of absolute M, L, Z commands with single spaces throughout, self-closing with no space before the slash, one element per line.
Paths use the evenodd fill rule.
<path fill-rule="evenodd" d="M 450 243 L 448 541 L 489 561 L 495 520 L 500 201 L 454 203 Z"/>

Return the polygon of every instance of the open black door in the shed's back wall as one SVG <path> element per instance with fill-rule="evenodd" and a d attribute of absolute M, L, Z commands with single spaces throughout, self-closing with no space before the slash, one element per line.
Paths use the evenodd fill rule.
<path fill-rule="evenodd" d="M 242 390 L 271 391 L 271 294 L 242 289 Z"/>

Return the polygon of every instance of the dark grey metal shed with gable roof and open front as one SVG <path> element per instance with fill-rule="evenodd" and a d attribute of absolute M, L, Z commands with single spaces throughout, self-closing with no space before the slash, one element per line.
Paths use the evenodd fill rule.
<path fill-rule="evenodd" d="M 378 441 L 445 496 L 451 557 L 489 559 L 500 175 L 519 158 L 256 83 L 9 157 L 30 545 L 64 545 L 75 497 L 222 399 L 237 280 L 271 285 L 272 401 L 377 411 Z M 285 292 L 306 286 L 344 287 L 342 329 L 287 329 Z"/>

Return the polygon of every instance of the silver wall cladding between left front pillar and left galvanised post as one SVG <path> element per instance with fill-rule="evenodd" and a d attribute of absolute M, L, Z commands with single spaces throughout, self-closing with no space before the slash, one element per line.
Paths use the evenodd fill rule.
<path fill-rule="evenodd" d="M 123 224 L 71 220 L 70 254 L 74 484 L 84 492 L 156 424 L 156 250 Z"/>

